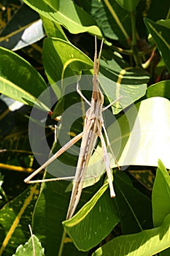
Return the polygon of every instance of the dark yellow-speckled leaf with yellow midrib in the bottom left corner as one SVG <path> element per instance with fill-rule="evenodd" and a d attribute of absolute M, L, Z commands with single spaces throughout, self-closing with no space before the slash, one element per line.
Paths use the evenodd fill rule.
<path fill-rule="evenodd" d="M 28 224 L 39 195 L 39 185 L 28 187 L 7 203 L 0 211 L 0 255 L 12 255 L 15 249 L 30 237 Z"/>

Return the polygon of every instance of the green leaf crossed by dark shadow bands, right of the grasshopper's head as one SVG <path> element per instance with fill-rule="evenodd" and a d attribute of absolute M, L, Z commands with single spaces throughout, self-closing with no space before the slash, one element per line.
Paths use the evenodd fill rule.
<path fill-rule="evenodd" d="M 107 54 L 104 54 L 104 57 L 107 57 Z M 120 95 L 123 97 L 117 102 L 117 108 L 112 108 L 114 114 L 146 93 L 147 81 L 150 79 L 148 73 L 142 69 L 128 67 L 128 64 L 117 56 L 112 56 L 111 60 L 101 60 L 100 72 L 101 77 L 99 76 L 98 80 L 109 102 L 113 102 Z"/>

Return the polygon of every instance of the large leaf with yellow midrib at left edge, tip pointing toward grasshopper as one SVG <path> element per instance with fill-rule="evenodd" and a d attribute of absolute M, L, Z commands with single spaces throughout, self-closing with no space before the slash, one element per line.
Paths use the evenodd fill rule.
<path fill-rule="evenodd" d="M 0 92 L 2 94 L 26 105 L 36 104 L 38 108 L 50 111 L 49 98 L 46 97 L 45 104 L 37 99 L 46 89 L 45 80 L 31 64 L 16 53 L 0 48 Z"/>

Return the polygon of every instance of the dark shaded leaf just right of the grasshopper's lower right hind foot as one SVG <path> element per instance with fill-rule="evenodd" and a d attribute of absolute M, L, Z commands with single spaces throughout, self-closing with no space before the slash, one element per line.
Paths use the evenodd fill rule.
<path fill-rule="evenodd" d="M 152 207 L 148 197 L 135 189 L 119 170 L 114 175 L 117 211 L 122 233 L 140 232 L 152 227 Z"/>

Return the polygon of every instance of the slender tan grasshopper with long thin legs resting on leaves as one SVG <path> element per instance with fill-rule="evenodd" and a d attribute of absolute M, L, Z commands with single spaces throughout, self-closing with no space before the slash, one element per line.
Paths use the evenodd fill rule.
<path fill-rule="evenodd" d="M 112 173 L 109 167 L 109 155 L 107 154 L 107 146 L 104 140 L 104 136 L 102 134 L 102 129 L 104 130 L 104 134 L 107 140 L 107 145 L 109 146 L 109 150 L 112 152 L 112 155 L 115 159 L 115 162 L 117 164 L 117 167 L 120 169 L 117 160 L 115 158 L 115 155 L 112 151 L 112 148 L 109 144 L 109 138 L 107 135 L 107 130 L 104 127 L 104 120 L 102 117 L 102 112 L 104 110 L 107 110 L 110 106 L 112 106 L 115 102 L 120 100 L 122 97 L 119 97 L 114 102 L 107 105 L 107 107 L 103 108 L 104 104 L 104 95 L 102 94 L 99 83 L 98 83 L 98 72 L 99 72 L 99 63 L 101 58 L 101 49 L 103 45 L 103 39 L 101 41 L 101 48 L 100 52 L 98 54 L 97 59 L 97 42 L 95 37 L 95 55 L 94 55 L 94 64 L 93 64 L 93 93 L 91 97 L 91 102 L 88 102 L 88 99 L 86 99 L 82 92 L 79 89 L 79 83 L 77 82 L 77 93 L 80 94 L 82 99 L 85 100 L 85 102 L 88 103 L 90 108 L 85 113 L 85 125 L 83 128 L 83 131 L 74 137 L 72 140 L 70 140 L 68 143 L 66 143 L 65 146 L 63 146 L 58 152 L 56 152 L 53 157 L 47 160 L 44 165 L 39 167 L 37 170 L 34 171 L 28 178 L 26 178 L 24 181 L 28 184 L 31 183 L 37 183 L 37 182 L 45 182 L 45 181 L 58 181 L 63 180 L 67 178 L 72 177 L 64 177 L 64 178 L 50 178 L 50 179 L 44 179 L 44 180 L 38 180 L 38 181 L 31 181 L 31 178 L 33 178 L 37 173 L 39 173 L 42 169 L 47 167 L 47 165 L 50 165 L 51 162 L 53 162 L 54 159 L 59 157 L 61 154 L 63 154 L 64 151 L 66 151 L 68 148 L 70 148 L 74 143 L 76 143 L 80 138 L 82 138 L 81 146 L 80 146 L 80 154 L 77 162 L 77 169 L 76 173 L 73 179 L 73 189 L 72 189 L 72 195 L 69 203 L 69 209 L 67 211 L 66 219 L 71 219 L 74 211 L 77 208 L 77 204 L 79 203 L 80 196 L 82 193 L 82 186 L 83 181 L 85 179 L 85 173 L 88 167 L 88 162 L 90 159 L 91 154 L 93 153 L 93 150 L 96 146 L 96 140 L 99 137 L 101 139 L 101 146 L 103 151 L 103 157 L 105 162 L 105 167 L 107 170 L 107 177 L 109 181 L 109 189 L 110 189 L 110 196 L 115 197 L 115 190 L 113 188 L 112 184 Z"/>

